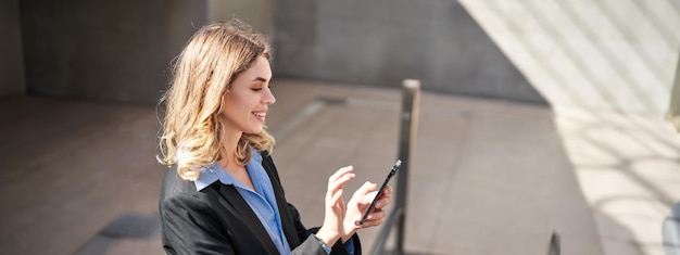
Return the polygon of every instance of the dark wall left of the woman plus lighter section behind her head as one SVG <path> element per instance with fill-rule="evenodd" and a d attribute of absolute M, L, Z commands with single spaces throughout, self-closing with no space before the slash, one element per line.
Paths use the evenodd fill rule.
<path fill-rule="evenodd" d="M 209 21 L 239 17 L 274 35 L 273 0 L 5 0 L 0 17 L 0 95 L 154 103 Z"/>

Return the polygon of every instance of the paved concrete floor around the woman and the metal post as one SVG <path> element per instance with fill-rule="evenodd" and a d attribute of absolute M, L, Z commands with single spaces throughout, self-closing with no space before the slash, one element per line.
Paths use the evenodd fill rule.
<path fill-rule="evenodd" d="M 401 91 L 279 79 L 267 115 L 287 197 L 307 226 L 326 178 L 353 165 L 351 193 L 396 160 Z M 323 99 L 323 100 L 319 100 Z M 0 99 L 1 254 L 163 254 L 102 233 L 155 217 L 154 105 Z M 680 137 L 654 116 L 424 92 L 406 212 L 410 254 L 663 254 L 680 200 Z M 396 182 L 393 182 L 396 183 Z M 379 229 L 362 230 L 365 252 Z"/>

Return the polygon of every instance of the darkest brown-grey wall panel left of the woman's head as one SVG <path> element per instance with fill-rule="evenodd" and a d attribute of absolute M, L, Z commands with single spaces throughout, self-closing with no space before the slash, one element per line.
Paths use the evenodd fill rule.
<path fill-rule="evenodd" d="M 205 1 L 22 0 L 30 93 L 156 102 L 169 63 L 206 21 Z"/>

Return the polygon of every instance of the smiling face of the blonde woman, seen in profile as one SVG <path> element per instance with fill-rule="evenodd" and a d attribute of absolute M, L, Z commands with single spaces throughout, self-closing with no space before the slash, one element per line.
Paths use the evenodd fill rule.
<path fill-rule="evenodd" d="M 267 107 L 276 102 L 269 90 L 270 79 L 269 62 L 259 56 L 250 68 L 231 81 L 222 102 L 225 131 L 262 132 Z"/>

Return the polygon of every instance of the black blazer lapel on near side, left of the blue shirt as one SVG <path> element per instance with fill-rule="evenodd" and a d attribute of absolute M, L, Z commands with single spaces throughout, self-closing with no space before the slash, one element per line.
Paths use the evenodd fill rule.
<path fill-rule="evenodd" d="M 267 230 L 262 226 L 260 218 L 250 208 L 248 202 L 243 200 L 241 194 L 234 188 L 234 186 L 219 186 L 219 194 L 224 200 L 219 200 L 219 203 L 226 208 L 234 208 L 238 212 L 238 215 L 241 216 L 241 219 L 245 222 L 245 225 L 250 226 L 250 230 L 253 231 L 255 235 L 257 235 L 257 240 L 264 245 L 270 254 L 278 254 L 278 250 L 276 245 L 274 245 L 274 241 L 267 233 Z M 238 234 L 238 233 L 235 233 Z"/>

